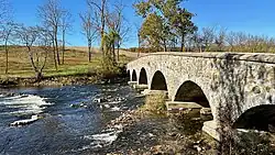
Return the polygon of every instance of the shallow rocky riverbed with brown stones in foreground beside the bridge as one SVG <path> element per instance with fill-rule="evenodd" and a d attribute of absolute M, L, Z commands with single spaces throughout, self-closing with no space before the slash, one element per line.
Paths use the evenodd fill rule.
<path fill-rule="evenodd" d="M 216 142 L 201 132 L 202 121 L 185 113 L 129 110 L 107 129 L 120 130 L 118 139 L 97 154 L 215 154 Z M 88 152 L 87 152 L 88 154 Z"/>

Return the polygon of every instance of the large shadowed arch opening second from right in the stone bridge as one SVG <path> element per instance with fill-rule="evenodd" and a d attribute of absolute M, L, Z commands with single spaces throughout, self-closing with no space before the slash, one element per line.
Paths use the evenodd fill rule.
<path fill-rule="evenodd" d="M 196 102 L 204 108 L 210 108 L 202 89 L 195 82 L 187 80 L 177 90 L 175 101 Z"/>

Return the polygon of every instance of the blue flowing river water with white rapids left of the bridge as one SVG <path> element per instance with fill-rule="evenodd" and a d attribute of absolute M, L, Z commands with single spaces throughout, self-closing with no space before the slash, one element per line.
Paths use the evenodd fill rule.
<path fill-rule="evenodd" d="M 81 154 L 105 147 L 119 130 L 106 130 L 123 110 L 143 102 L 129 86 L 16 88 L 0 92 L 0 154 Z M 36 115 L 22 126 L 10 124 Z M 118 128 L 119 129 L 119 128 Z"/>

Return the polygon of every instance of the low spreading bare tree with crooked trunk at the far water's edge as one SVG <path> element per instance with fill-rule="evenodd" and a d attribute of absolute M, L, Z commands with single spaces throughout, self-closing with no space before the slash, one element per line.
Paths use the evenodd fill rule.
<path fill-rule="evenodd" d="M 52 33 L 52 32 L 51 32 Z M 46 65 L 47 59 L 47 52 L 52 44 L 52 37 L 50 31 L 44 30 L 38 26 L 22 26 L 18 31 L 18 36 L 22 43 L 28 48 L 28 55 L 30 58 L 30 63 L 32 65 L 33 70 L 36 74 L 36 80 L 40 81 L 43 78 L 43 69 Z M 34 45 L 36 45 L 36 51 L 34 49 Z M 44 48 L 43 52 L 40 51 L 40 48 Z M 46 48 L 46 49 L 45 49 Z M 35 57 L 34 54 L 36 54 L 36 63 L 34 62 Z M 37 56 L 43 56 L 44 60 L 40 63 L 37 59 Z"/>

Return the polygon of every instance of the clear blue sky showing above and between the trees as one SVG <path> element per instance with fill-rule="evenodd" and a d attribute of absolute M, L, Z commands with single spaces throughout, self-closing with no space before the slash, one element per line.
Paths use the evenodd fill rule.
<path fill-rule="evenodd" d="M 116 1 L 116 0 L 112 0 Z M 132 3 L 135 0 L 123 0 L 128 22 L 132 24 L 131 40 L 124 46 L 136 46 L 136 27 L 141 19 L 135 15 Z M 26 25 L 40 22 L 37 7 L 45 0 L 10 0 L 13 7 L 14 21 Z M 80 33 L 79 13 L 86 9 L 86 0 L 62 0 L 62 5 L 73 14 L 73 31 L 67 36 L 68 43 L 75 46 L 86 45 Z M 223 26 L 228 31 L 243 31 L 251 34 L 275 36 L 275 0 L 188 0 L 183 3 L 197 15 L 194 22 L 199 27 Z"/>

